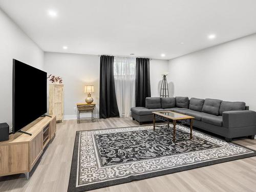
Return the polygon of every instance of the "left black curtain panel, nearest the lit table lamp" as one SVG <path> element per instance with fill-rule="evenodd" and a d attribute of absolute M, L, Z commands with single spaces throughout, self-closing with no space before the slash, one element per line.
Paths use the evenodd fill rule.
<path fill-rule="evenodd" d="M 113 66 L 114 56 L 100 56 L 99 118 L 119 117 Z"/>

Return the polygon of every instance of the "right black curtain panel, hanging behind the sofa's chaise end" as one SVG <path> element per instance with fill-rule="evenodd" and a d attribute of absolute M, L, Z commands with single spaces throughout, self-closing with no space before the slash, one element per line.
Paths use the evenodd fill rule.
<path fill-rule="evenodd" d="M 145 106 L 146 97 L 151 97 L 150 89 L 150 59 L 136 58 L 135 80 L 135 103 L 136 106 Z"/>

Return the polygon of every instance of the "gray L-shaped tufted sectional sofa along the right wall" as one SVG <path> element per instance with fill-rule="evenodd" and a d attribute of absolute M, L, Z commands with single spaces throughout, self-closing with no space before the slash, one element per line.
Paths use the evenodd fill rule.
<path fill-rule="evenodd" d="M 153 111 L 174 111 L 195 117 L 193 125 L 202 130 L 232 138 L 256 135 L 256 112 L 245 102 L 188 97 L 147 97 L 146 107 L 131 108 L 133 120 L 140 124 L 153 120 Z M 188 122 L 187 122 L 188 123 Z"/>

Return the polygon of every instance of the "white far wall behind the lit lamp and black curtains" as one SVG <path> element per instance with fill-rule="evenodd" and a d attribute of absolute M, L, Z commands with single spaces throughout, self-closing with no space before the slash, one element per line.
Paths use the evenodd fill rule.
<path fill-rule="evenodd" d="M 163 71 L 168 71 L 168 61 L 154 59 L 150 61 L 152 96 L 159 96 L 158 84 Z M 96 116 L 99 113 L 99 72 L 100 57 L 70 53 L 45 53 L 45 70 L 48 74 L 63 78 L 64 116 L 65 119 L 76 118 L 74 111 L 77 102 L 84 102 L 87 94 L 83 93 L 85 85 L 92 84 L 92 94 L 96 105 Z"/>

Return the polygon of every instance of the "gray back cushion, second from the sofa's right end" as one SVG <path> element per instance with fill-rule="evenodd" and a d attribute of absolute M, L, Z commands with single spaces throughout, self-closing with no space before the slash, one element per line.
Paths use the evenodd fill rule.
<path fill-rule="evenodd" d="M 222 100 L 219 99 L 205 99 L 202 112 L 212 115 L 219 115 L 221 102 Z"/>

